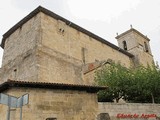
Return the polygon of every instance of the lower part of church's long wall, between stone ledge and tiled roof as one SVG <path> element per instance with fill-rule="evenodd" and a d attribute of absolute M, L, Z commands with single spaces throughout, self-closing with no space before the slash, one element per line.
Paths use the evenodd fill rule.
<path fill-rule="evenodd" d="M 85 84 L 80 61 L 46 47 L 38 50 L 37 57 L 38 81 Z"/>

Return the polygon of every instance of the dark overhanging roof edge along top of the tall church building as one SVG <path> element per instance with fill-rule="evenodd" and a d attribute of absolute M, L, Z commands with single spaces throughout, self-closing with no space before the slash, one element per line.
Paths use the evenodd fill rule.
<path fill-rule="evenodd" d="M 54 19 L 57 19 L 57 20 L 62 20 L 64 21 L 66 24 L 70 24 L 72 23 L 71 21 L 55 14 L 54 12 L 42 7 L 42 6 L 38 6 L 35 10 L 33 10 L 32 12 L 30 12 L 26 17 L 24 17 L 22 20 L 20 20 L 17 24 L 15 24 L 12 28 L 10 28 L 4 35 L 3 35 L 3 38 L 2 38 L 2 42 L 1 42 L 1 47 L 4 48 L 4 45 L 5 45 L 5 40 L 7 37 L 9 37 L 15 30 L 17 30 L 19 27 L 21 27 L 24 23 L 26 23 L 29 19 L 31 19 L 32 17 L 34 17 L 37 13 L 39 12 L 43 12 L 44 14 L 47 14 L 49 15 L 50 17 L 54 18 Z M 120 51 L 121 53 L 129 56 L 129 57 L 134 57 L 133 54 L 123 50 L 123 49 L 120 49 L 118 46 L 112 44 L 111 42 L 99 37 L 98 35 L 80 27 L 79 25 L 76 25 L 75 23 L 72 23 L 70 24 L 70 26 L 74 29 L 77 29 L 79 30 L 80 32 L 88 35 L 88 36 L 91 36 L 92 38 L 96 39 L 97 41 L 100 41 L 110 47 L 112 47 L 113 49 L 117 50 L 117 51 Z"/>

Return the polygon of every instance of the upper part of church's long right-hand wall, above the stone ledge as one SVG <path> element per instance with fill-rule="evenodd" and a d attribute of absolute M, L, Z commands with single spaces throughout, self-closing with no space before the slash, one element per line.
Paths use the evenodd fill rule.
<path fill-rule="evenodd" d="M 41 42 L 43 46 L 78 59 L 82 63 L 112 59 L 121 62 L 126 67 L 131 65 L 131 60 L 127 55 L 70 27 L 66 23 L 43 13 L 41 13 L 41 20 Z"/>

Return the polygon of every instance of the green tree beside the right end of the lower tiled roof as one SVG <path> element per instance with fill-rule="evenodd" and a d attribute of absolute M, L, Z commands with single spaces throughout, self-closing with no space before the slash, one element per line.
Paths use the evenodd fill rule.
<path fill-rule="evenodd" d="M 114 63 L 97 71 L 96 82 L 102 86 L 109 86 L 107 91 L 98 93 L 99 101 L 112 102 L 115 99 L 118 102 L 119 99 L 124 98 L 131 84 L 130 73 L 129 69 Z"/>

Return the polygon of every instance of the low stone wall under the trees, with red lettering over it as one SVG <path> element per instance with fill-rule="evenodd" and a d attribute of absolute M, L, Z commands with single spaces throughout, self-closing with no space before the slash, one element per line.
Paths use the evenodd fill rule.
<path fill-rule="evenodd" d="M 109 114 L 111 120 L 160 120 L 160 104 L 100 102 L 98 112 Z"/>

